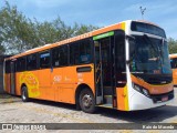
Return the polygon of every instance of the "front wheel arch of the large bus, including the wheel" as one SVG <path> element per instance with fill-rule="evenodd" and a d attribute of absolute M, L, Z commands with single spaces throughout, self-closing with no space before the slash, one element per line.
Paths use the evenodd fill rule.
<path fill-rule="evenodd" d="M 86 84 L 80 84 L 76 89 L 75 93 L 75 103 L 77 109 L 82 109 L 82 111 L 86 113 L 95 112 L 95 98 L 92 89 Z M 92 104 L 90 104 L 92 103 Z"/>

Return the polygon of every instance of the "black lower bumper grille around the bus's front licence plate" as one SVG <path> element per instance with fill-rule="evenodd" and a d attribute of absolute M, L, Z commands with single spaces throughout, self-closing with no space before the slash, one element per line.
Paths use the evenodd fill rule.
<path fill-rule="evenodd" d="M 154 103 L 159 103 L 159 102 L 164 102 L 163 98 L 168 98 L 167 101 L 174 99 L 174 91 L 170 91 L 168 93 L 165 94 L 152 94 L 150 98 L 153 99 Z"/>

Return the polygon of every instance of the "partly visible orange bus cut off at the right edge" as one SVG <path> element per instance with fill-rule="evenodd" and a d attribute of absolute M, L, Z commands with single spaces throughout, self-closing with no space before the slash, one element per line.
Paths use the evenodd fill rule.
<path fill-rule="evenodd" d="M 170 65 L 173 69 L 173 81 L 174 85 L 177 85 L 177 53 L 169 54 Z"/>

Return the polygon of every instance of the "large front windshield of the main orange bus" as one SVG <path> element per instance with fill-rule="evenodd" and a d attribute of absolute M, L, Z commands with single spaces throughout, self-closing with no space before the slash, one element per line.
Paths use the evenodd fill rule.
<path fill-rule="evenodd" d="M 136 35 L 134 42 L 129 41 L 129 59 L 132 73 L 171 73 L 167 42 L 163 39 Z"/>

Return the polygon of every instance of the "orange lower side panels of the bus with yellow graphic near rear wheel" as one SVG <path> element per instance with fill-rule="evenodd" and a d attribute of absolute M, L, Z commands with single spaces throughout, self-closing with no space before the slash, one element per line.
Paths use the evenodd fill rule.
<path fill-rule="evenodd" d="M 80 84 L 86 84 L 95 94 L 94 65 L 91 72 L 76 72 L 77 66 L 64 66 L 18 72 L 15 74 L 15 94 L 21 95 L 21 86 L 25 84 L 29 98 L 75 104 L 75 91 Z M 10 93 L 10 74 L 6 74 L 6 92 Z"/>

